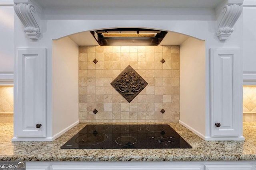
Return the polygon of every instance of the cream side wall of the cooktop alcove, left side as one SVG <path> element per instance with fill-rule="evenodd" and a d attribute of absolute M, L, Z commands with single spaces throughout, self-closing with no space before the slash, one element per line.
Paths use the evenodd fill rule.
<path fill-rule="evenodd" d="M 78 122 L 78 45 L 52 41 L 52 135 Z"/>

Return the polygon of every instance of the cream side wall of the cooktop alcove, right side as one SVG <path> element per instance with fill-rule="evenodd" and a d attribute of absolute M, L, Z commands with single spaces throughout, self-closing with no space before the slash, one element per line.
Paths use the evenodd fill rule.
<path fill-rule="evenodd" d="M 204 138 L 206 134 L 205 41 L 188 38 L 180 45 L 180 123 Z"/>

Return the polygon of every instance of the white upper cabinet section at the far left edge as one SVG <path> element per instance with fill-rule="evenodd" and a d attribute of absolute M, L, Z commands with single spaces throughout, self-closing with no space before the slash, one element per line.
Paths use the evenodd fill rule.
<path fill-rule="evenodd" d="M 13 84 L 14 9 L 13 0 L 0 0 L 0 84 Z"/>

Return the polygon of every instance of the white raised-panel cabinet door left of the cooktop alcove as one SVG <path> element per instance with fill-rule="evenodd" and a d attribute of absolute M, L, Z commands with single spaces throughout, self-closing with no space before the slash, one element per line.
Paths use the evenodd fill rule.
<path fill-rule="evenodd" d="M 46 137 L 46 49 L 17 49 L 15 72 L 14 137 Z"/>

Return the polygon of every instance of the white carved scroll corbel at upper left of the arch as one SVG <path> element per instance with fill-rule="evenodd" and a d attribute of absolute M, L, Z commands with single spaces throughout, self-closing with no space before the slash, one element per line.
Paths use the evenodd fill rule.
<path fill-rule="evenodd" d="M 41 29 L 33 15 L 36 12 L 35 6 L 28 1 L 16 3 L 14 0 L 14 3 L 14 11 L 24 25 L 24 32 L 30 39 L 37 40 L 40 37 Z"/>

